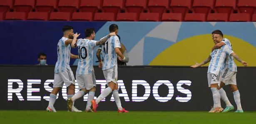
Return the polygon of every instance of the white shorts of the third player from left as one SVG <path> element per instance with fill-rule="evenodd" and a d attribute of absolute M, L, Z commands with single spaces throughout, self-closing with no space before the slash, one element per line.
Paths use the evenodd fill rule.
<path fill-rule="evenodd" d="M 117 83 L 117 66 L 114 66 L 112 69 L 103 70 L 103 74 L 106 79 L 107 85 L 111 81 Z"/>

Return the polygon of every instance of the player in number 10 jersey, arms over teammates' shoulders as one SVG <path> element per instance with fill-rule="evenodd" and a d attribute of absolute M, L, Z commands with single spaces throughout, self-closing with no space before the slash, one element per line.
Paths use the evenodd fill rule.
<path fill-rule="evenodd" d="M 79 90 L 72 98 L 67 100 L 68 108 L 71 111 L 74 107 L 73 103 L 76 99 L 84 96 L 88 92 L 88 100 L 85 112 L 93 112 L 91 110 L 91 101 L 94 99 L 94 93 L 96 91 L 96 80 L 93 69 L 93 49 L 95 46 L 104 44 L 110 36 L 116 35 L 114 32 L 102 38 L 100 41 L 94 41 L 95 32 L 94 29 L 85 30 L 85 39 L 77 40 L 80 34 L 75 33 L 71 47 L 78 48 L 79 61 L 76 72 L 76 79 L 79 86 Z"/>

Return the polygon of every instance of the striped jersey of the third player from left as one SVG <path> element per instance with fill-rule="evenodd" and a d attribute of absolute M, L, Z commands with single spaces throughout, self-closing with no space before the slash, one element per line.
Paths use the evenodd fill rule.
<path fill-rule="evenodd" d="M 101 45 L 103 55 L 102 70 L 112 69 L 117 67 L 117 53 L 114 48 L 121 48 L 120 41 L 117 36 L 111 36 L 107 39 L 104 45 Z"/>

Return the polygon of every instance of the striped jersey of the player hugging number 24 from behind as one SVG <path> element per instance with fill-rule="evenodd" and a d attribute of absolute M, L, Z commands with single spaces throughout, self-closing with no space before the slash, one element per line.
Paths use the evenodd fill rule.
<path fill-rule="evenodd" d="M 229 41 L 229 39 L 224 38 L 223 41 L 226 45 L 229 45 L 232 50 L 232 45 Z M 227 56 L 225 60 L 225 65 L 223 66 L 223 69 L 229 68 L 229 71 L 237 72 L 236 63 L 234 62 L 234 58 L 232 56 Z"/>

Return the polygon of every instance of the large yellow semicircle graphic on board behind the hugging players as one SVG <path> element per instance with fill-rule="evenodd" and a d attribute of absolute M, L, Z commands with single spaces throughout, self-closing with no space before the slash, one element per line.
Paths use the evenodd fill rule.
<path fill-rule="evenodd" d="M 249 66 L 256 66 L 256 48 L 246 41 L 224 34 L 232 44 L 233 51 L 248 62 Z M 149 65 L 191 66 L 195 62 L 203 62 L 211 53 L 214 43 L 211 34 L 203 34 L 186 38 L 160 53 Z M 236 61 L 237 66 L 242 64 Z M 204 66 L 208 66 L 205 64 Z"/>

